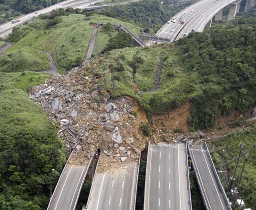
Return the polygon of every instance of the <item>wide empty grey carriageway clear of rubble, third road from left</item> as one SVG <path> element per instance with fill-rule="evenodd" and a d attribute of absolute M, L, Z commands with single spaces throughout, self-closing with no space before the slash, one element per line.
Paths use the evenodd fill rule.
<path fill-rule="evenodd" d="M 186 145 L 149 145 L 144 210 L 191 210 Z"/>

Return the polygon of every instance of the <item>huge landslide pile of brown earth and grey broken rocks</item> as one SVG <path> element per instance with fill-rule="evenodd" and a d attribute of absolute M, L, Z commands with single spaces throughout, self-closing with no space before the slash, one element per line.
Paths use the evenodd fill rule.
<path fill-rule="evenodd" d="M 147 139 L 139 117 L 131 115 L 136 105 L 125 97 L 102 94 L 97 79 L 87 76 L 88 65 L 34 87 L 30 97 L 55 122 L 66 149 L 75 148 L 74 164 L 87 162 L 99 150 L 119 164 L 137 160 Z"/>

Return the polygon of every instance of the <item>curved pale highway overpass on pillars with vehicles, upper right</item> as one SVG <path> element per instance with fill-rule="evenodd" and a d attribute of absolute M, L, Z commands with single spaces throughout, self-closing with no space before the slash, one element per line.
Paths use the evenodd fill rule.
<path fill-rule="evenodd" d="M 151 39 L 149 37 L 150 41 L 148 41 L 147 45 L 154 44 L 157 41 L 156 37 L 173 42 L 183 38 L 192 30 L 201 32 L 205 27 L 211 27 L 214 18 L 216 21 L 222 20 L 223 8 L 227 5 L 230 5 L 228 20 L 232 20 L 239 12 L 240 2 L 241 0 L 199 0 L 177 13 L 175 21 L 168 20 L 157 31 L 154 38 Z M 245 11 L 255 5 L 256 0 L 247 0 Z M 179 19 L 184 20 L 184 24 L 181 24 Z M 160 43 L 161 41 L 157 42 Z"/>

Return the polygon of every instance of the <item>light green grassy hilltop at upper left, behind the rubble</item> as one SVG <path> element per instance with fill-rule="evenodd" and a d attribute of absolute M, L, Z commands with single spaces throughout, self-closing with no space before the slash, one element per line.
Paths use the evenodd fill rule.
<path fill-rule="evenodd" d="M 122 24 L 136 34 L 140 33 L 140 28 L 135 25 L 100 15 L 85 17 L 84 15 L 71 14 L 61 18 L 62 22 L 50 30 L 43 28 L 45 20 L 40 19 L 23 26 L 31 28 L 30 32 L 8 49 L 3 57 L 6 62 L 0 65 L 0 69 L 8 70 L 8 67 L 11 67 L 10 70 L 12 71 L 46 70 L 49 68 L 50 63 L 48 57 L 43 53 L 45 50 L 53 55 L 59 70 L 70 70 L 85 57 L 93 32 L 91 23 L 110 22 L 112 24 Z M 109 37 L 105 34 L 101 37 L 99 32 L 96 52 L 100 52 L 101 49 L 105 48 L 108 39 Z M 10 54 L 13 55 L 11 59 L 8 58 Z M 15 65 L 21 63 L 20 57 L 27 58 L 26 62 L 22 66 Z M 10 66 L 10 63 L 12 63 L 12 66 Z"/>

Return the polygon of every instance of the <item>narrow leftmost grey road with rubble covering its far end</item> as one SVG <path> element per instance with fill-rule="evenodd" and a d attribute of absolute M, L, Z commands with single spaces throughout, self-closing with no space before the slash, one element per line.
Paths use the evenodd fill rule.
<path fill-rule="evenodd" d="M 84 166 L 67 164 L 47 210 L 75 209 L 90 164 L 91 161 Z"/>

